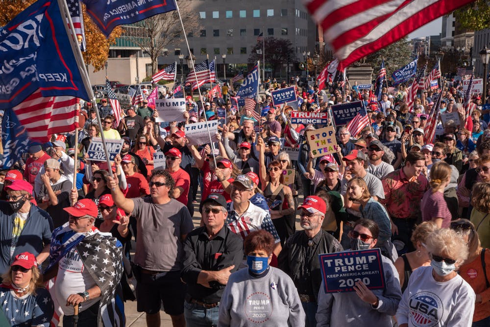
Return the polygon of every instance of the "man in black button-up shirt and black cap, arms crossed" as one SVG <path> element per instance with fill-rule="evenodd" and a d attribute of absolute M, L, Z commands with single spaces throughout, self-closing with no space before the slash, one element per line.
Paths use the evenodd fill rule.
<path fill-rule="evenodd" d="M 231 273 L 244 257 L 242 238 L 224 226 L 226 199 L 211 193 L 202 202 L 204 226 L 187 235 L 181 278 L 187 283 L 184 317 L 187 326 L 217 326 L 219 304 Z"/>

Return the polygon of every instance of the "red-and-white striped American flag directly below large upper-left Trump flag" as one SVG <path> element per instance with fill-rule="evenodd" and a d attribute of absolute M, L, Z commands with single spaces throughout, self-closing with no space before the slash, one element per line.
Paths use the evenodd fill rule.
<path fill-rule="evenodd" d="M 51 134 L 72 132 L 78 127 L 77 106 L 76 97 L 43 97 L 38 89 L 13 109 L 30 139 L 48 142 Z"/>

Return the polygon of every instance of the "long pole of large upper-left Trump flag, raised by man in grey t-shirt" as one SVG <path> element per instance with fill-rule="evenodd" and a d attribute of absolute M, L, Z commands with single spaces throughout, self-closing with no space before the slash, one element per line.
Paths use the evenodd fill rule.
<path fill-rule="evenodd" d="M 70 10 L 68 9 L 68 5 L 67 5 L 65 0 L 58 0 L 58 5 L 60 8 L 61 18 L 62 19 L 68 19 L 68 24 L 63 24 L 63 25 L 65 25 L 65 30 L 68 34 L 68 39 L 70 40 L 70 46 L 72 47 L 73 56 L 75 57 L 75 61 L 77 62 L 78 70 L 81 70 L 80 75 L 82 77 L 83 85 L 84 85 L 87 93 L 92 98 L 91 99 L 92 106 L 94 108 L 97 108 L 97 102 L 95 99 L 94 91 L 92 90 L 92 87 L 90 85 L 89 75 L 88 75 L 87 69 L 85 68 L 85 62 L 83 60 L 82 51 L 80 49 L 80 45 L 78 44 L 78 39 L 75 40 L 75 38 L 74 38 L 76 33 L 75 33 L 75 28 L 73 26 L 72 17 L 70 16 Z M 96 116 L 97 116 L 98 128 L 101 131 L 103 131 L 102 122 L 100 121 L 100 115 L 98 113 L 98 110 L 95 110 L 95 112 L 96 112 Z M 114 176 L 112 174 L 111 161 L 109 160 L 109 152 L 107 151 L 107 145 L 105 143 L 104 134 L 100 133 L 100 137 L 102 138 L 102 147 L 104 148 L 105 160 L 106 160 L 107 166 L 109 168 L 108 169 L 109 170 L 109 176 L 114 178 Z M 74 167 L 73 174 L 76 175 L 76 167 Z"/>

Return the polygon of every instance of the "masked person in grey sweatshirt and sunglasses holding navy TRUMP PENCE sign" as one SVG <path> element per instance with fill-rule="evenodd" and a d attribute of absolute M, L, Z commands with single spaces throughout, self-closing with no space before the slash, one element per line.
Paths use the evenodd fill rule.
<path fill-rule="evenodd" d="M 351 250 L 368 250 L 376 246 L 379 236 L 378 225 L 368 219 L 359 219 L 349 232 Z M 342 326 L 358 327 L 367 322 L 376 327 L 392 327 L 391 316 L 402 294 L 398 273 L 392 261 L 381 256 L 384 289 L 370 290 L 362 280 L 354 283 L 354 292 L 325 293 L 324 286 L 320 287 L 318 295 L 317 327 Z"/>

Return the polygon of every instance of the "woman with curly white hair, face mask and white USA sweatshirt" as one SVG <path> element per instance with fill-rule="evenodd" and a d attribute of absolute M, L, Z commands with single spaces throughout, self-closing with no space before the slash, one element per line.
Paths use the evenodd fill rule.
<path fill-rule="evenodd" d="M 475 292 L 456 272 L 468 257 L 466 241 L 442 228 L 428 235 L 426 247 L 431 264 L 410 276 L 396 311 L 398 326 L 471 326 Z"/>

